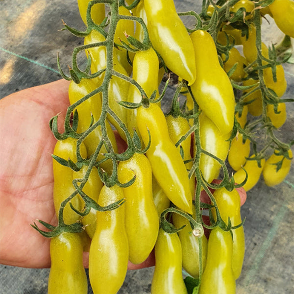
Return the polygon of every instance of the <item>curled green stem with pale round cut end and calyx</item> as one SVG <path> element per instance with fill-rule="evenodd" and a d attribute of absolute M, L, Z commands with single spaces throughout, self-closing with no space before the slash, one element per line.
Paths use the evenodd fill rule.
<path fill-rule="evenodd" d="M 177 213 L 181 215 L 182 217 L 186 218 L 188 221 L 190 221 L 190 225 L 192 228 L 192 234 L 197 237 L 201 238 L 204 234 L 203 226 L 201 223 L 198 223 L 196 220 L 193 219 L 193 217 L 182 210 L 176 209 L 174 207 L 167 208 L 164 210 L 160 215 L 160 225 L 163 228 L 163 230 L 169 234 L 176 233 L 183 229 L 185 225 L 181 226 L 180 228 L 176 228 L 171 222 L 167 221 L 166 214 L 169 212 Z"/>

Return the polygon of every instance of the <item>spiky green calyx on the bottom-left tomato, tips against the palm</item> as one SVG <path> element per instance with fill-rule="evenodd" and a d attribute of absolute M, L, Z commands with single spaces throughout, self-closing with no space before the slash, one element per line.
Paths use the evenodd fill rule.
<path fill-rule="evenodd" d="M 42 225 L 44 225 L 50 231 L 41 230 L 35 222 L 34 224 L 31 224 L 31 226 L 46 238 L 56 237 L 63 232 L 81 233 L 84 230 L 83 224 L 80 222 L 74 222 L 72 224 L 63 223 L 61 225 L 54 226 L 49 224 L 46 221 L 41 221 L 41 220 L 37 220 L 37 221 L 39 221 Z"/>

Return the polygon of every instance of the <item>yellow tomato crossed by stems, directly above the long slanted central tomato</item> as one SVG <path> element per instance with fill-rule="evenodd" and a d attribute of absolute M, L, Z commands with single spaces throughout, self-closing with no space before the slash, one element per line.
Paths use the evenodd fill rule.
<path fill-rule="evenodd" d="M 145 51 L 138 51 L 133 61 L 133 79 L 140 84 L 150 98 L 153 91 L 157 91 L 158 95 L 158 69 L 159 61 L 154 49 L 150 47 Z M 142 99 L 141 93 L 136 86 L 130 85 L 128 93 L 128 102 L 140 103 Z M 127 127 L 131 134 L 137 126 L 136 123 L 137 109 L 128 109 L 127 111 Z"/>

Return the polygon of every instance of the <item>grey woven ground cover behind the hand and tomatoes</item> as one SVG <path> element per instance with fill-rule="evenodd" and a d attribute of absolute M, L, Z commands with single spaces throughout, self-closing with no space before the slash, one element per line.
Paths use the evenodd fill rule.
<path fill-rule="evenodd" d="M 200 12 L 202 1 L 175 0 L 175 4 L 178 12 Z M 60 79 L 57 52 L 66 70 L 73 48 L 82 44 L 82 39 L 61 31 L 61 20 L 77 29 L 85 28 L 76 0 L 1 0 L 0 11 L 1 98 Z M 263 21 L 263 41 L 267 45 L 279 43 L 283 34 L 270 17 L 267 19 L 269 23 Z M 183 21 L 189 26 L 192 20 Z M 288 82 L 283 98 L 294 98 L 294 65 L 283 66 Z M 173 93 L 172 85 L 169 93 Z M 285 143 L 294 137 L 294 105 L 287 105 L 287 114 L 287 122 L 278 131 L 278 137 Z M 260 179 L 247 194 L 242 218 L 246 218 L 246 250 L 237 293 L 294 293 L 294 165 L 278 186 L 269 188 Z M 152 267 L 128 271 L 119 294 L 150 293 L 153 270 Z M 49 269 L 0 265 L 0 293 L 47 293 L 48 275 Z"/>

